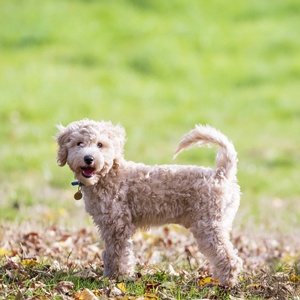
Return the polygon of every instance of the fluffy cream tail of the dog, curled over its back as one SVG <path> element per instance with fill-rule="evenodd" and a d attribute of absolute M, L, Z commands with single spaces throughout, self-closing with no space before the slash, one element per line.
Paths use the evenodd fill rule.
<path fill-rule="evenodd" d="M 184 149 L 190 149 L 194 145 L 203 147 L 211 143 L 220 147 L 216 156 L 216 174 L 229 180 L 235 178 L 238 159 L 232 142 L 220 131 L 208 125 L 196 125 L 195 129 L 184 135 L 175 151 L 174 159 Z"/>

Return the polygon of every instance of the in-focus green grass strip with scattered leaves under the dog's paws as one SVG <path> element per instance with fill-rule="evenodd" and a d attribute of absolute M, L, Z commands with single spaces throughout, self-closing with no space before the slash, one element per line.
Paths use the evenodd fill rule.
<path fill-rule="evenodd" d="M 297 299 L 300 293 L 299 279 L 293 279 L 300 278 L 296 265 L 279 267 L 276 271 L 264 271 L 260 275 L 245 273 L 234 288 L 213 283 L 202 286 L 201 278 L 206 278 L 209 282 L 210 277 L 199 276 L 199 272 L 170 275 L 165 271 L 152 270 L 151 275 L 138 273 L 136 279 L 115 281 L 103 278 L 100 275 L 101 269 L 93 269 L 91 277 L 80 276 L 82 270 L 78 269 L 53 271 L 46 264 L 18 269 L 18 276 L 14 271 L 6 271 L 6 275 L 2 279 L 0 277 L 0 297 L 16 299 L 19 294 L 18 299 L 90 299 L 82 295 L 84 290 L 88 290 L 91 295 L 101 297 L 102 300 L 139 297 L 157 300 Z"/>

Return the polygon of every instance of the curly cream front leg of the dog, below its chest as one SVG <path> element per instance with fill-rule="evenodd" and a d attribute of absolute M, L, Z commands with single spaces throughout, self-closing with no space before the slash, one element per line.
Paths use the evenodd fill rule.
<path fill-rule="evenodd" d="M 120 222 L 101 230 L 105 242 L 105 250 L 102 253 L 104 277 L 134 274 L 135 259 L 131 240 L 134 232 L 133 225 L 121 225 Z"/>

